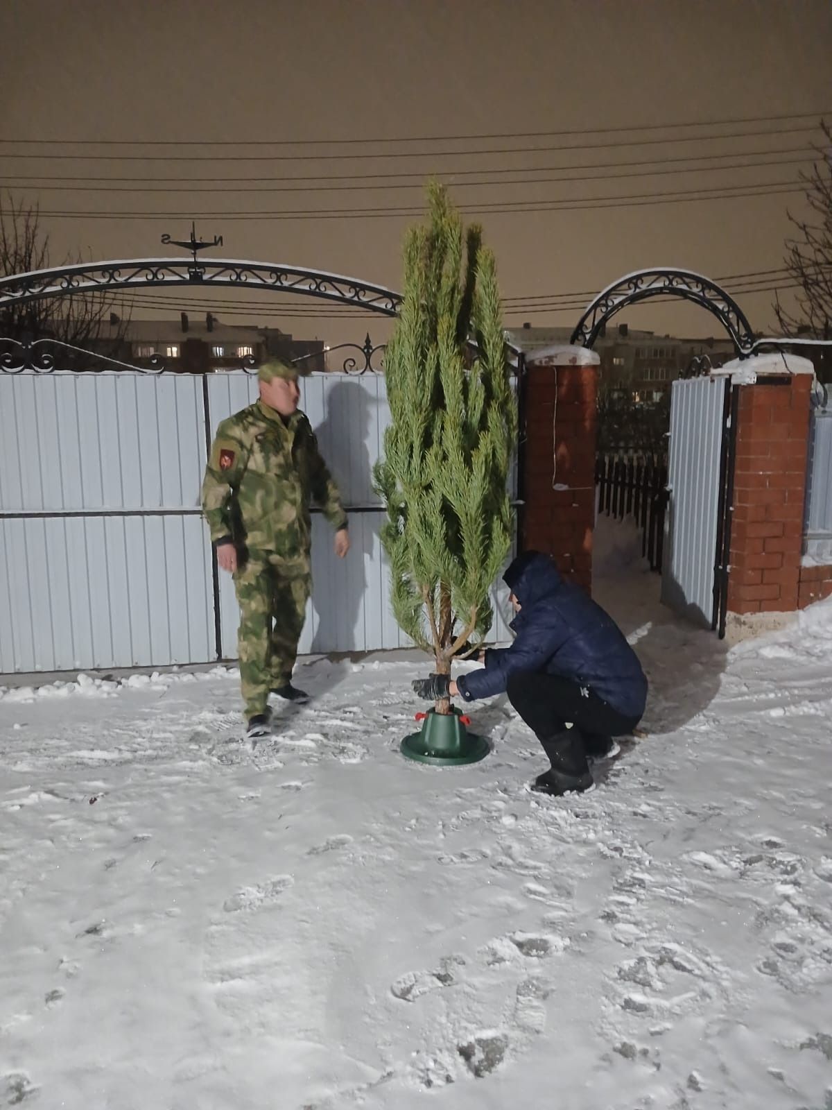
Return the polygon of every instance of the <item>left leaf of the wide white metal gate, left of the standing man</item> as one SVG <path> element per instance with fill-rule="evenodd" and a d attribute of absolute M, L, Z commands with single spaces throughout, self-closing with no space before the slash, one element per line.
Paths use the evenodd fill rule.
<path fill-rule="evenodd" d="M 0 375 L 0 672 L 215 657 L 185 375 Z"/>

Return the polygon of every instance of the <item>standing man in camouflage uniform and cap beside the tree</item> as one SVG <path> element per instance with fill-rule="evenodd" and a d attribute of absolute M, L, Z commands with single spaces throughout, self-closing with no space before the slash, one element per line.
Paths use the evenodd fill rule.
<path fill-rule="evenodd" d="M 268 694 L 306 695 L 292 668 L 312 587 L 308 503 L 335 527 L 335 554 L 349 549 L 337 486 L 308 420 L 297 407 L 297 371 L 260 367 L 260 400 L 221 422 L 202 483 L 202 509 L 216 561 L 234 576 L 240 604 L 240 677 L 248 735 L 268 731 Z"/>

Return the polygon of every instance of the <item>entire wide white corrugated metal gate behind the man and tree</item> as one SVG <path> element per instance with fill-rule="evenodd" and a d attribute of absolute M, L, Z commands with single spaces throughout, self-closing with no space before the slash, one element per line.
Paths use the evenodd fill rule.
<path fill-rule="evenodd" d="M 372 487 L 389 422 L 384 376 L 312 374 L 301 389 L 353 546 L 336 559 L 313 512 L 300 649 L 409 646 L 388 604 Z M 0 674 L 236 655 L 233 584 L 217 573 L 199 494 L 216 425 L 256 392 L 244 371 L 0 374 Z M 501 584 L 493 602 L 489 639 L 507 639 Z"/>

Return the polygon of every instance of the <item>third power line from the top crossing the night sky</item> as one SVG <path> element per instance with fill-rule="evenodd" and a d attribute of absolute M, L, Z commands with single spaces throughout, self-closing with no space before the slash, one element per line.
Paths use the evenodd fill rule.
<path fill-rule="evenodd" d="M 443 172 L 449 176 L 461 178 L 461 176 L 476 176 L 478 173 L 556 173 L 556 172 L 570 172 L 572 170 L 608 170 L 608 169 L 631 169 L 635 165 L 667 165 L 669 163 L 678 162 L 698 162 L 698 161 L 717 161 L 720 159 L 728 158 L 762 158 L 767 154 L 806 154 L 812 155 L 816 153 L 813 147 L 787 147 L 783 150 L 744 150 L 744 151 L 731 151 L 730 153 L 723 154 L 682 154 L 674 158 L 650 158 L 640 161 L 627 160 L 618 162 L 581 162 L 578 165 L 528 165 L 528 167 L 484 167 L 479 170 L 444 170 Z M 0 155 L 2 157 L 2 155 Z M 804 161 L 804 159 L 800 159 Z M 696 168 L 691 168 L 691 173 L 698 173 Z M 301 175 L 295 174 L 287 178 L 200 178 L 200 181 L 210 182 L 216 184 L 217 182 L 240 182 L 244 181 L 246 183 L 271 183 L 271 182 L 307 182 L 307 181 L 382 181 L 388 180 L 390 178 L 419 178 L 419 181 L 424 181 L 424 175 L 419 170 L 399 170 L 393 173 L 348 173 L 348 174 L 311 174 Z M 115 182 L 133 182 L 139 180 L 142 183 L 145 182 L 190 182 L 193 181 L 192 176 L 187 178 L 95 178 L 95 176 L 41 176 L 37 174 L 20 174 L 20 175 L 6 175 L 3 181 L 103 181 L 104 183 Z"/>

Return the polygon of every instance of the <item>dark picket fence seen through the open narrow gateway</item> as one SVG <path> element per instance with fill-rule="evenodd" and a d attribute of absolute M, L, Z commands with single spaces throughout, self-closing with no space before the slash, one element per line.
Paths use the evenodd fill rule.
<path fill-rule="evenodd" d="M 598 512 L 622 521 L 632 516 L 641 529 L 641 554 L 661 574 L 667 458 L 599 455 L 595 464 Z"/>

